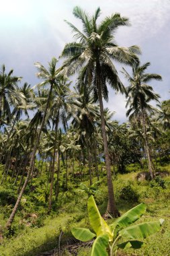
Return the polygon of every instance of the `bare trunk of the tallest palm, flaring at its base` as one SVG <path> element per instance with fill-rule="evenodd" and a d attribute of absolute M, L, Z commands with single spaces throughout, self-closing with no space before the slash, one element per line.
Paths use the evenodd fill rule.
<path fill-rule="evenodd" d="M 108 141 L 106 137 L 105 132 L 105 119 L 104 119 L 104 110 L 103 110 L 103 100 L 101 95 L 101 87 L 100 84 L 97 84 L 98 89 L 98 96 L 99 96 L 99 107 L 100 107 L 100 115 L 101 115 L 101 131 L 102 131 L 102 137 L 103 137 L 103 147 L 104 147 L 104 154 L 105 154 L 105 168 L 107 172 L 107 181 L 108 181 L 108 207 L 107 211 L 117 218 L 120 216 L 120 213 L 118 212 L 116 208 L 116 202 L 114 198 L 114 186 L 112 182 L 112 173 L 110 168 L 110 156 L 109 156 L 109 150 L 108 150 Z"/>

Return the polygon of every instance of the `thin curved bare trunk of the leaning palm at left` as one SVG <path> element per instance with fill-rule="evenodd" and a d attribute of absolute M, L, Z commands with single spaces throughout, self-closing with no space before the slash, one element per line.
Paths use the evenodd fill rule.
<path fill-rule="evenodd" d="M 50 103 L 50 96 L 51 96 L 51 93 L 52 93 L 52 86 L 53 84 L 50 85 L 50 92 L 48 94 L 48 100 L 46 102 L 46 108 L 44 110 L 44 115 L 43 115 L 43 119 L 42 119 L 42 123 L 41 123 L 41 127 L 40 127 L 40 130 L 39 130 L 39 133 L 38 133 L 38 136 L 37 136 L 37 139 L 34 143 L 34 148 L 32 150 L 32 154 L 31 154 L 31 159 L 30 159 L 30 168 L 28 170 L 28 174 L 27 174 L 27 177 L 26 177 L 26 181 L 24 182 L 24 185 L 22 187 L 22 190 L 20 191 L 19 193 L 19 196 L 17 197 L 17 201 L 15 203 L 15 206 L 13 207 L 13 210 L 11 212 L 11 215 L 9 216 L 9 219 L 7 220 L 7 224 L 6 224 L 6 227 L 9 228 L 9 226 L 11 226 L 12 222 L 13 222 L 13 219 L 15 217 L 15 214 L 17 212 L 17 208 L 19 206 L 19 203 L 22 199 L 22 195 L 24 194 L 24 191 L 26 189 L 26 186 L 28 184 L 28 181 L 30 179 L 30 174 L 32 173 L 32 170 L 34 168 L 34 160 L 35 160 L 35 156 L 36 156 L 36 150 L 38 148 L 38 145 L 40 143 L 40 136 L 41 136 L 41 133 L 42 133 L 42 129 L 44 127 L 44 124 L 45 124 L 45 121 L 46 121 L 46 113 L 47 113 L 47 110 L 48 110 L 48 106 L 49 106 L 49 103 Z"/>

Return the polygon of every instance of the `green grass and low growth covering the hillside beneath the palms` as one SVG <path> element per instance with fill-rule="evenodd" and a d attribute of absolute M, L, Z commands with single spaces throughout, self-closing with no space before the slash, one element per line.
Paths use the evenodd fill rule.
<path fill-rule="evenodd" d="M 114 177 L 114 190 L 118 210 L 123 214 L 134 205 L 143 201 L 147 205 L 147 211 L 141 221 L 147 222 L 164 218 L 165 224 L 163 224 L 161 232 L 151 236 L 151 238 L 147 238 L 145 241 L 146 245 L 142 249 L 136 251 L 129 249 L 124 252 L 119 251 L 119 253 L 120 255 L 133 256 L 170 255 L 170 177 L 165 177 L 166 187 L 163 189 L 157 183 L 151 186 L 151 183 L 148 181 L 136 181 L 137 169 L 136 165 L 131 165 L 129 166 L 128 173 L 117 174 Z M 162 170 L 170 170 L 170 165 L 163 166 Z M 58 236 L 61 230 L 64 232 L 65 237 L 62 238 L 61 243 L 65 244 L 65 241 L 71 237 L 71 228 L 73 226 L 89 226 L 86 205 L 88 196 L 85 192 L 77 190 L 79 189 L 79 182 L 70 183 L 69 191 L 65 191 L 65 193 L 61 191 L 57 203 L 53 199 L 53 212 L 51 216 L 46 216 L 46 201 L 44 199 L 45 178 L 34 179 L 32 186 L 37 186 L 39 189 L 30 192 L 31 187 L 28 187 L 23 197 L 21 208 L 15 217 L 13 224 L 14 234 L 3 239 L 3 243 L 0 245 L 0 255 L 36 256 L 42 251 L 50 251 L 58 247 Z M 96 181 L 96 179 L 93 178 L 93 181 Z M 89 185 L 89 181 L 83 181 L 83 183 Z M 127 197 L 126 193 L 124 193 L 124 188 L 126 187 L 130 187 L 127 190 Z M 9 193 L 12 191 L 12 186 L 9 184 L 9 187 L 7 187 L 6 184 L 5 189 Z M 4 192 L 4 187 L 0 187 L 0 192 L 1 190 Z M 99 206 L 101 214 L 104 214 L 107 206 L 107 193 L 106 177 L 103 175 L 99 189 L 95 193 L 95 201 Z M 134 193 L 137 195 L 135 200 L 133 197 Z M 11 207 L 12 205 L 0 205 L 0 222 L 2 226 L 5 225 L 5 221 L 11 212 Z M 38 220 L 35 223 L 30 219 L 24 222 L 28 212 L 38 214 Z M 31 226 L 27 226 L 26 224 L 30 222 Z M 81 247 L 77 251 L 77 255 L 89 256 L 89 251 L 89 247 Z M 66 250 L 63 255 L 67 256 L 71 255 L 71 253 Z"/>

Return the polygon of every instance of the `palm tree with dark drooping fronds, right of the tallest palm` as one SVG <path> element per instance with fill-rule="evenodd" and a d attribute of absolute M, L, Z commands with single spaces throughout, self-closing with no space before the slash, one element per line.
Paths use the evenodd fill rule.
<path fill-rule="evenodd" d="M 147 136 L 147 124 L 148 124 L 148 112 L 154 113 L 154 108 L 149 104 L 151 100 L 159 101 L 159 95 L 153 92 L 152 86 L 148 86 L 147 82 L 153 79 L 161 80 L 161 75 L 156 73 L 145 73 L 149 62 L 140 65 L 140 62 L 134 63 L 132 66 L 132 76 L 123 69 L 125 77 L 128 79 L 130 86 L 127 88 L 128 101 L 126 106 L 130 106 L 126 115 L 132 119 L 132 117 L 138 117 L 142 121 L 142 130 L 144 135 L 144 146 L 146 150 L 146 156 L 148 158 L 148 171 L 151 174 L 151 179 L 154 177 L 154 166 L 151 157 L 151 149 L 149 148 L 148 136 Z"/>

